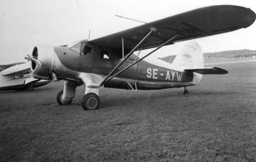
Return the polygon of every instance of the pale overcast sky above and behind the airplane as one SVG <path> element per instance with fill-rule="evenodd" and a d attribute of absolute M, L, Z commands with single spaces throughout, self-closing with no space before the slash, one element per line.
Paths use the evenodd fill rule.
<path fill-rule="evenodd" d="M 252 0 L 1 0 L 0 64 L 25 62 L 35 45 L 67 45 L 140 26 L 115 15 L 152 22 L 178 13 L 217 4 L 233 4 L 256 11 Z M 232 33 L 200 38 L 204 52 L 256 50 L 256 23 Z M 190 40 L 191 41 L 191 40 Z M 188 41 L 164 47 L 152 57 L 177 54 Z"/>

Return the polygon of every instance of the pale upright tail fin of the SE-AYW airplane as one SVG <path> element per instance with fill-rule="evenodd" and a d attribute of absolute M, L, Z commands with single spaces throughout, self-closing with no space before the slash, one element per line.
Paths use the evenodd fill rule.
<path fill-rule="evenodd" d="M 189 42 L 176 55 L 172 64 L 184 69 L 204 68 L 204 55 L 201 47 L 195 41 Z"/>

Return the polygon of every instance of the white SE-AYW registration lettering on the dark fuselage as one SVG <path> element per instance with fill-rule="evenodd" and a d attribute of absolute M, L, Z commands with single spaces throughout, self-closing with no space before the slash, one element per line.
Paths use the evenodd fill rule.
<path fill-rule="evenodd" d="M 147 78 L 157 79 L 158 78 L 157 71 L 158 71 L 157 69 L 147 68 Z M 181 72 L 171 70 L 171 74 L 172 74 L 172 81 L 173 80 L 181 81 L 181 79 L 182 79 Z M 160 76 L 164 76 L 164 73 L 160 73 Z M 171 80 L 169 70 L 166 71 L 165 80 Z"/>

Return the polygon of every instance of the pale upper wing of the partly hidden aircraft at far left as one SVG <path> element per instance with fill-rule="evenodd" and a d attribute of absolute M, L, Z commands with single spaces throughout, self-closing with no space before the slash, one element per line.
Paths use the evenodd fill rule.
<path fill-rule="evenodd" d="M 1 75 L 11 75 L 13 73 L 23 73 L 26 71 L 30 72 L 30 64 L 29 63 L 11 66 L 10 68 L 7 68 L 7 69 L 1 71 Z"/>

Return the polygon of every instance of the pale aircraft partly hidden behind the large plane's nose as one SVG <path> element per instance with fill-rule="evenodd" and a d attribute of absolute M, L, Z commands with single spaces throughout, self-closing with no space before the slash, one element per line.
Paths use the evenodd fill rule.
<path fill-rule="evenodd" d="M 34 91 L 34 87 L 48 84 L 51 80 L 33 78 L 31 63 L 17 64 L 0 72 L 0 90 Z"/>

